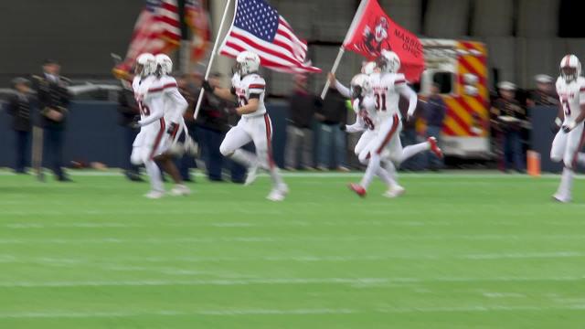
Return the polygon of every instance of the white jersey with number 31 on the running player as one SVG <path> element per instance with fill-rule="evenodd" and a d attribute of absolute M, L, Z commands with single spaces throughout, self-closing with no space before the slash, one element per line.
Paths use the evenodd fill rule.
<path fill-rule="evenodd" d="M 399 87 L 406 86 L 406 79 L 401 73 L 375 73 L 370 77 L 374 106 L 378 117 L 388 118 L 394 114 L 400 115 Z"/>

